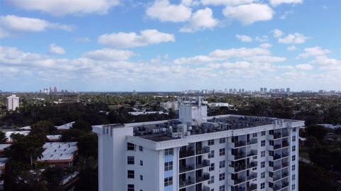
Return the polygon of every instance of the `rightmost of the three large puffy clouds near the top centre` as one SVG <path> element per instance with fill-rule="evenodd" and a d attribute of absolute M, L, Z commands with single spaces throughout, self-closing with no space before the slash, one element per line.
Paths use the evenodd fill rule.
<path fill-rule="evenodd" d="M 223 13 L 224 16 L 237 19 L 247 25 L 257 21 L 269 21 L 275 12 L 267 4 L 244 4 L 227 6 Z"/>

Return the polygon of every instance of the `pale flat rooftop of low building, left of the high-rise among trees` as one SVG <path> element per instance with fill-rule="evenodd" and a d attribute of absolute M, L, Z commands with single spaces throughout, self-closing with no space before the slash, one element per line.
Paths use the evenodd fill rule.
<path fill-rule="evenodd" d="M 73 160 L 75 152 L 77 151 L 77 142 L 45 143 L 43 148 L 45 151 L 43 151 L 42 157 L 38 158 L 38 162 L 70 162 Z"/>

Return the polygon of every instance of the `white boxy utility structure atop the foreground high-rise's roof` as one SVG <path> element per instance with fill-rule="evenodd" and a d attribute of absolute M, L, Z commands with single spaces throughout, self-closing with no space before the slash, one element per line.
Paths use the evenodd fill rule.
<path fill-rule="evenodd" d="M 197 97 L 195 102 L 182 100 L 179 119 L 187 126 L 200 125 L 207 121 L 207 105 L 201 102 L 201 97 Z"/>

